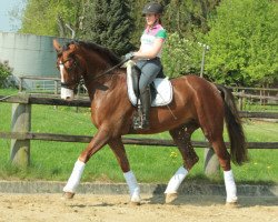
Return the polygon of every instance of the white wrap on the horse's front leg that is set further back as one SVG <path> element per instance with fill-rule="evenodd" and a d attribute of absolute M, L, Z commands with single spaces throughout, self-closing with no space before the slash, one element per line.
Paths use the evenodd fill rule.
<path fill-rule="evenodd" d="M 140 188 L 137 183 L 136 176 L 132 171 L 123 173 L 123 176 L 128 183 L 131 202 L 140 202 Z"/>

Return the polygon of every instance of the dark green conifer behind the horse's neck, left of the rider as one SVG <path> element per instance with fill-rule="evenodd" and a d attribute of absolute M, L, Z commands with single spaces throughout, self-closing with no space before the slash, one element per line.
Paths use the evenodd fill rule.
<path fill-rule="evenodd" d="M 117 54 L 132 49 L 130 37 L 133 29 L 128 1 L 96 0 L 86 18 L 82 37 L 109 48 Z"/>

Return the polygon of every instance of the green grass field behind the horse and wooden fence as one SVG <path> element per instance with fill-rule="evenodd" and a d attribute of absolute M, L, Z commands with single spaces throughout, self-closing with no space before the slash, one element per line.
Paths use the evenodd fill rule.
<path fill-rule="evenodd" d="M 0 90 L 0 94 L 13 94 L 14 90 Z M 278 124 L 244 121 L 249 142 L 277 142 Z M 9 132 L 11 104 L 0 102 L 0 131 Z M 32 132 L 93 135 L 90 110 L 51 105 L 32 105 Z M 136 137 L 136 135 L 130 135 Z M 139 135 L 142 138 L 142 135 Z M 145 138 L 170 139 L 168 132 L 143 135 Z M 227 140 L 227 135 L 225 133 Z M 193 140 L 203 140 L 200 131 Z M 27 169 L 11 167 L 10 141 L 0 139 L 0 180 L 56 180 L 66 181 L 85 143 L 31 141 L 31 165 Z M 182 164 L 176 148 L 127 145 L 131 169 L 139 182 L 167 182 Z M 197 148 L 199 163 L 187 180 L 222 182 L 222 175 L 206 178 L 203 174 L 203 149 Z M 278 150 L 249 150 L 250 161 L 242 167 L 232 165 L 239 183 L 278 183 Z M 122 172 L 108 147 L 99 151 L 87 164 L 82 181 L 123 182 Z"/>

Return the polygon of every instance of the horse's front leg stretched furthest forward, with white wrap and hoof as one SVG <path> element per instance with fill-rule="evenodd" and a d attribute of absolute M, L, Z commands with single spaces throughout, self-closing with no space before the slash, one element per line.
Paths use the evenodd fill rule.
<path fill-rule="evenodd" d="M 64 198 L 73 198 L 77 186 L 80 183 L 80 179 L 83 173 L 86 163 L 96 152 L 98 152 L 103 145 L 107 144 L 108 140 L 108 133 L 106 131 L 99 130 L 98 133 L 91 140 L 91 142 L 88 144 L 88 147 L 82 151 L 73 167 L 73 170 L 66 186 L 63 188 Z"/>

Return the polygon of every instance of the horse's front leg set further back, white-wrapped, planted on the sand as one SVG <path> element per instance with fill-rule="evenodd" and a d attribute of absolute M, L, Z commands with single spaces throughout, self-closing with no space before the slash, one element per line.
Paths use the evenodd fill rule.
<path fill-rule="evenodd" d="M 121 138 L 110 140 L 108 142 L 109 147 L 113 151 L 120 168 L 123 172 L 123 176 L 127 181 L 129 193 L 130 193 L 130 200 L 131 203 L 140 204 L 141 198 L 140 198 L 140 188 L 137 183 L 136 176 L 133 172 L 130 170 L 129 161 L 127 158 L 127 153 L 125 150 L 125 147 L 122 144 Z"/>

